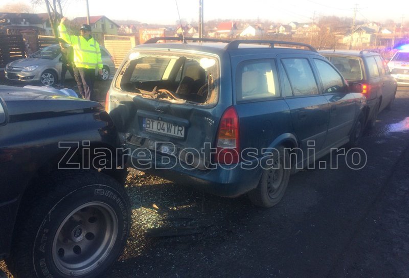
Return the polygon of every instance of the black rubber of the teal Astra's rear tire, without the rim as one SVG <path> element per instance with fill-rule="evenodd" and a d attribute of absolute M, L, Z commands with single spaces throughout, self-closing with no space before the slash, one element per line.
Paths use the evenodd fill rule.
<path fill-rule="evenodd" d="M 282 192 L 279 194 L 279 196 L 277 196 L 277 198 L 274 198 L 274 199 L 270 198 L 270 196 L 268 195 L 267 182 L 266 182 L 266 179 L 268 177 L 268 172 L 270 170 L 264 170 L 263 174 L 261 175 L 257 188 L 248 192 L 248 197 L 250 198 L 252 203 L 256 206 L 260 206 L 260 207 L 275 206 L 276 204 L 280 202 L 280 200 L 284 196 L 284 193 L 287 189 L 288 180 L 289 180 L 290 172 L 291 172 L 290 156 L 288 154 L 288 151 L 285 150 L 283 146 L 279 146 L 277 150 L 279 151 L 280 157 L 284 157 L 284 161 L 286 163 L 285 165 L 286 169 L 284 170 L 283 181 L 280 186 L 282 187 Z"/>

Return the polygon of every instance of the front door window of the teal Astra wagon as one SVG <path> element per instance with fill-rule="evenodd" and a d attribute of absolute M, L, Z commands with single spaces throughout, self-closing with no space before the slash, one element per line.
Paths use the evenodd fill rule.
<path fill-rule="evenodd" d="M 335 71 L 335 69 L 327 62 L 314 59 L 314 63 L 321 76 L 323 82 L 324 92 L 344 92 L 345 86 L 342 77 Z"/>

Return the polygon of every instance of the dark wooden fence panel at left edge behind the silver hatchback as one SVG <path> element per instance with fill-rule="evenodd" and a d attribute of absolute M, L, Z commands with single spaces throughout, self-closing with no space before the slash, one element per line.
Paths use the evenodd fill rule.
<path fill-rule="evenodd" d="M 21 35 L 0 35 L 0 68 L 26 57 L 26 44 Z"/>

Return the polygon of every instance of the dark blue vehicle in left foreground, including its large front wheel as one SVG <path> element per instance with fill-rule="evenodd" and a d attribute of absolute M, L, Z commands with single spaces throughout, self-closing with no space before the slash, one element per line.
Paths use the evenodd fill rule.
<path fill-rule="evenodd" d="M 117 259 L 130 206 L 103 163 L 116 142 L 97 102 L 0 86 L 0 260 L 15 278 L 102 277 Z"/>

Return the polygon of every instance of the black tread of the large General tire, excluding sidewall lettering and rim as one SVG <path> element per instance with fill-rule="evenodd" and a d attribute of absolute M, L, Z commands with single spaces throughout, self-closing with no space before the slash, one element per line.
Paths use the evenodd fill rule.
<path fill-rule="evenodd" d="M 117 193 L 125 201 L 128 212 L 128 233 L 125 240 L 121 243 L 120 251 L 115 254 L 115 258 L 107 259 L 97 271 L 86 275 L 76 276 L 81 278 L 101 277 L 101 272 L 106 270 L 123 252 L 126 245 L 126 239 L 129 235 L 130 223 L 130 202 L 125 189 L 112 177 L 95 171 L 56 171 L 46 178 L 37 182 L 38 191 L 33 193 L 31 204 L 21 204 L 24 206 L 19 211 L 16 224 L 10 256 L 5 260 L 9 271 L 14 278 L 46 277 L 46 275 L 37 276 L 33 263 L 33 248 L 37 237 L 37 231 L 42 225 L 42 221 L 49 216 L 50 210 L 65 196 L 70 195 L 90 184 L 101 184 L 107 186 Z M 110 254 L 109 257 L 112 255 Z M 110 261 L 110 262 L 109 262 Z M 48 277 L 48 276 L 47 276 Z M 53 275 L 52 277 L 66 277 L 62 275 Z"/>

